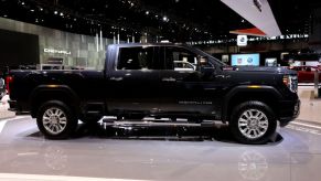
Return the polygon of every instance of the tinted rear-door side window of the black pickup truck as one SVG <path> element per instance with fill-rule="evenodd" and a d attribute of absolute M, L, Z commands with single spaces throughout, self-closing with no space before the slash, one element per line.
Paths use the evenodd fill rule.
<path fill-rule="evenodd" d="M 117 70 L 154 70 L 154 47 L 120 47 Z"/>

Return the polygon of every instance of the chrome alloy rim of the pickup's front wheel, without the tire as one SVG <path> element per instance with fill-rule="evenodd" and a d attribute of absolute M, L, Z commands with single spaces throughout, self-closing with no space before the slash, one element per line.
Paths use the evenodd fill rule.
<path fill-rule="evenodd" d="M 258 109 L 245 110 L 238 119 L 238 129 L 248 139 L 257 139 L 268 130 L 268 118 Z"/>

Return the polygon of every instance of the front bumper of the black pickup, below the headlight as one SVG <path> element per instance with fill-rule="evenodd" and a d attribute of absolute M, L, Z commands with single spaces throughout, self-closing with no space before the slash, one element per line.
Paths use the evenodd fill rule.
<path fill-rule="evenodd" d="M 290 121 L 300 115 L 301 102 L 297 100 L 281 100 L 279 102 L 279 121 L 280 126 L 287 126 Z"/>

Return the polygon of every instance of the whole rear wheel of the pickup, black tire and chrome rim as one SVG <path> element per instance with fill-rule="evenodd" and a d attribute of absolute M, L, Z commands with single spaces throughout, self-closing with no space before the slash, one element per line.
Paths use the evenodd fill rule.
<path fill-rule="evenodd" d="M 63 114 L 58 116 L 61 111 Z M 77 128 L 77 118 L 63 102 L 50 100 L 41 105 L 36 116 L 36 125 L 47 139 L 67 139 Z M 58 131 L 58 129 L 61 130 Z"/>

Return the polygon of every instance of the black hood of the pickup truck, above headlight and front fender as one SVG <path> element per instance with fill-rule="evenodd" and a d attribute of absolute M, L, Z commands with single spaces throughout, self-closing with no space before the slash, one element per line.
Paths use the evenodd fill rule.
<path fill-rule="evenodd" d="M 270 67 L 270 66 L 231 66 L 229 71 L 235 72 L 261 72 L 261 73 L 277 73 L 277 74 L 297 74 L 287 67 Z M 224 68 L 225 70 L 225 68 Z"/>

